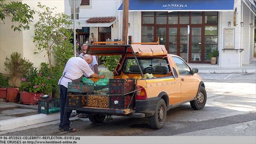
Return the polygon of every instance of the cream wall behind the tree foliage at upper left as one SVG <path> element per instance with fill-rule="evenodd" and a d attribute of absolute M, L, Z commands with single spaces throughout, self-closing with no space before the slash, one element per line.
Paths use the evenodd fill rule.
<path fill-rule="evenodd" d="M 59 0 L 41 0 L 41 1 L 29 1 L 24 0 L 22 3 L 26 3 L 33 10 L 38 10 L 37 3 L 50 6 L 58 7 L 57 12 L 64 12 L 64 1 Z M 7 73 L 4 70 L 5 57 L 10 57 L 12 52 L 21 53 L 22 57 L 29 59 L 34 63 L 36 67 L 40 65 L 41 62 L 47 62 L 47 58 L 44 57 L 46 54 L 42 52 L 41 54 L 34 54 L 35 43 L 33 43 L 34 36 L 34 23 L 38 21 L 37 14 L 34 15 L 33 23 L 31 23 L 29 30 L 22 30 L 20 33 L 18 31 L 13 31 L 11 29 L 11 21 L 6 19 L 5 23 L 0 23 L 0 73 Z"/>

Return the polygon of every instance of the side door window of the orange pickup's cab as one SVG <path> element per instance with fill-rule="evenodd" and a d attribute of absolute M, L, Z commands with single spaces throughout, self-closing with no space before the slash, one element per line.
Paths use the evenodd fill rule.
<path fill-rule="evenodd" d="M 182 59 L 178 57 L 172 57 L 172 58 L 178 67 L 180 75 L 191 75 L 190 68 L 188 67 L 186 62 L 184 62 Z"/>

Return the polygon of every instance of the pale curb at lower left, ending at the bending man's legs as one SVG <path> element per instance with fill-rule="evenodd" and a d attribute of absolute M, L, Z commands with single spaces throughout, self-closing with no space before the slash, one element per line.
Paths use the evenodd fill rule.
<path fill-rule="evenodd" d="M 17 129 L 34 124 L 46 123 L 60 119 L 60 113 L 50 115 L 38 114 L 32 116 L 18 117 L 0 121 L 0 131 Z"/>

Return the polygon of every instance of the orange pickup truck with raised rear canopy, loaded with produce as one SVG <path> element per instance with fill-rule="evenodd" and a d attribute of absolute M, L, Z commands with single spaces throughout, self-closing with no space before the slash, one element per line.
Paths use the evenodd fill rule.
<path fill-rule="evenodd" d="M 111 98 L 108 99 L 109 103 L 106 107 L 86 104 L 66 106 L 68 110 L 89 114 L 89 119 L 93 123 L 103 122 L 106 115 L 132 115 L 148 117 L 153 129 L 161 129 L 166 120 L 167 110 L 185 102 L 190 102 L 191 107 L 196 110 L 205 106 L 207 98 L 205 85 L 203 79 L 197 74 L 198 69 L 191 69 L 182 58 L 168 54 L 164 45 L 90 45 L 87 53 L 122 55 L 113 71 L 114 79 L 121 79 L 124 75 L 129 78 L 142 77 L 135 79 L 134 90 L 130 92 L 132 98 L 129 99 L 129 105 L 132 107 L 121 109 L 108 107 L 109 103 L 113 103 Z M 154 77 L 143 78 L 147 73 L 153 74 Z M 118 94 L 108 93 L 103 96 L 113 95 Z M 93 95 L 87 95 L 87 97 L 93 97 Z M 87 102 L 90 101 L 90 98 L 85 99 Z"/>

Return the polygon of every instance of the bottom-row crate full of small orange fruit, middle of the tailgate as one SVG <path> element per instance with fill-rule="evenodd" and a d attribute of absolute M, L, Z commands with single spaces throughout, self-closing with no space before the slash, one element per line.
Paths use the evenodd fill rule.
<path fill-rule="evenodd" d="M 88 107 L 109 108 L 109 96 L 89 95 L 87 97 Z"/>

